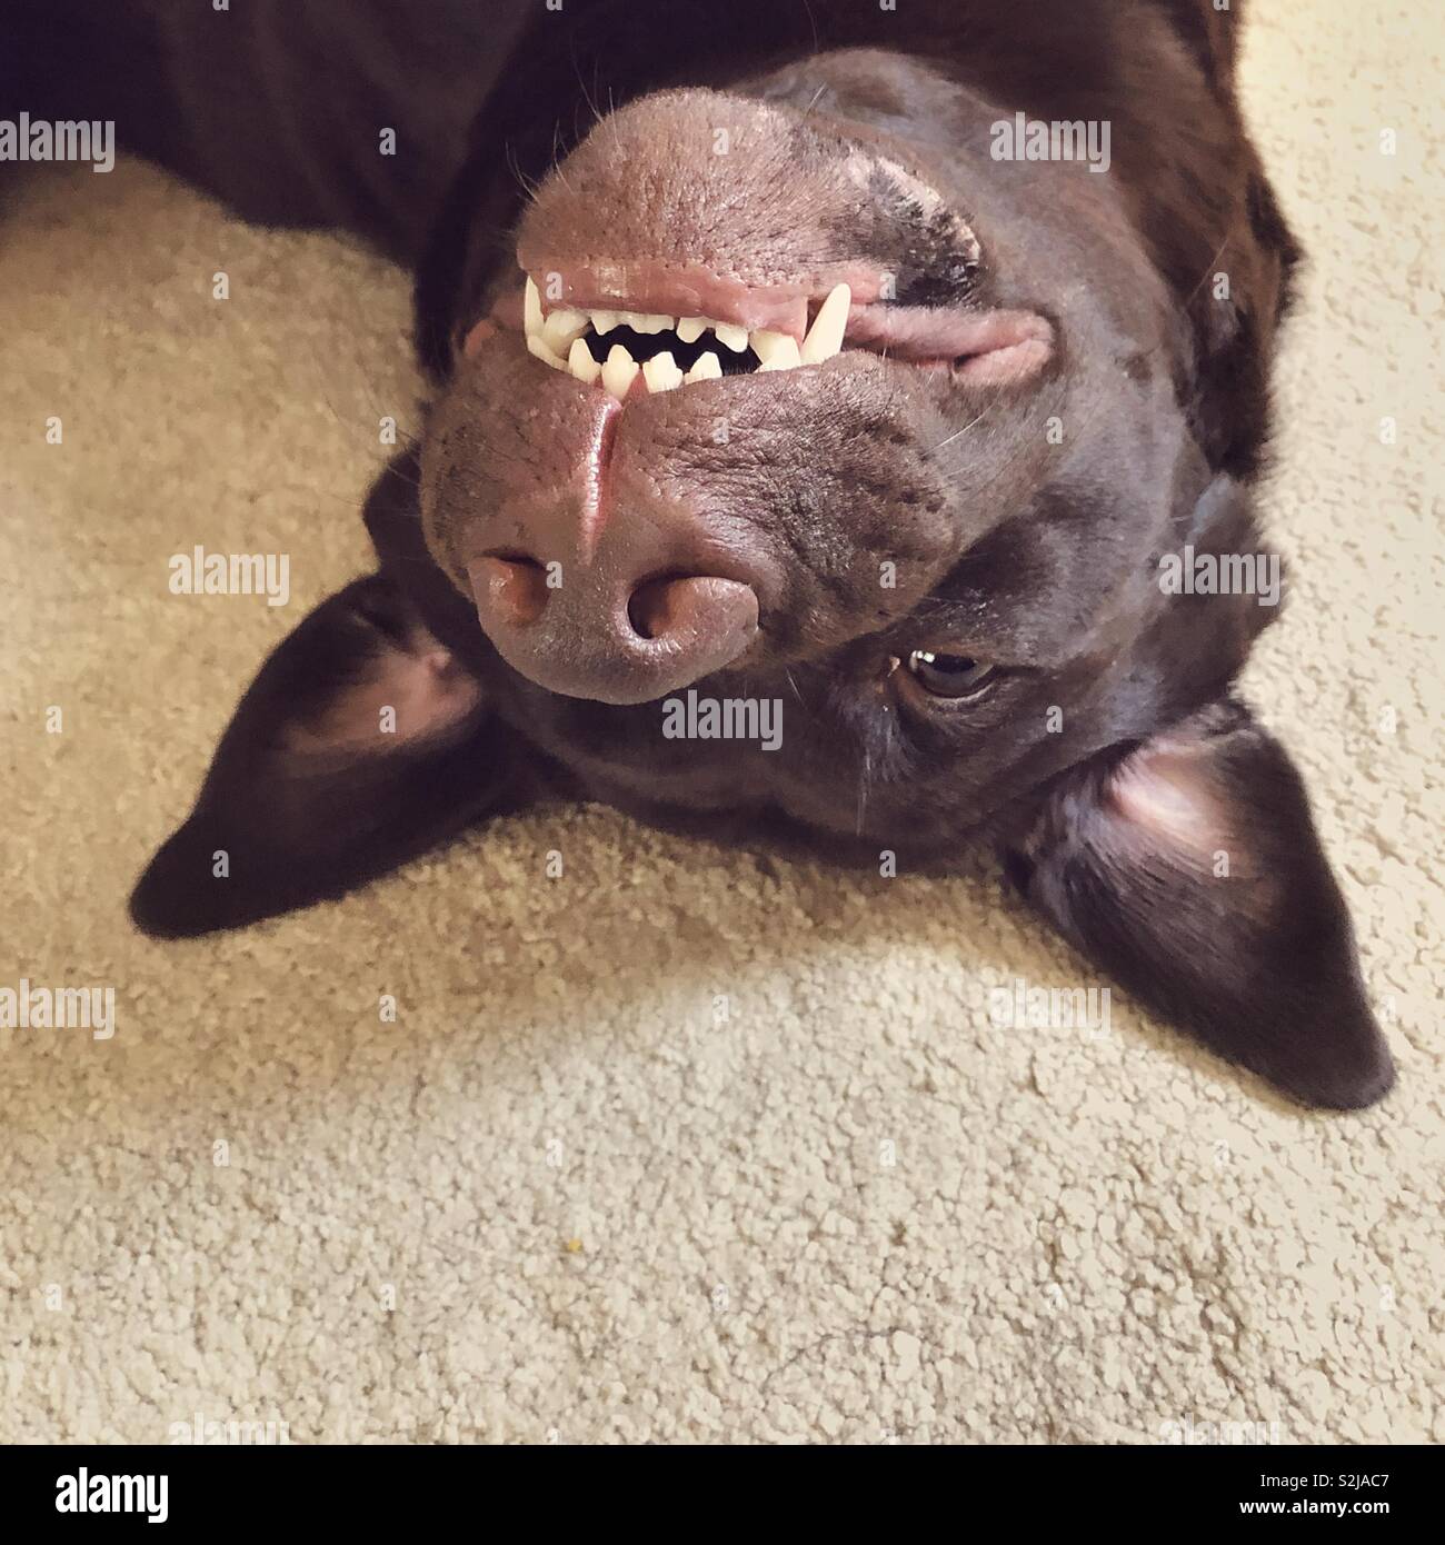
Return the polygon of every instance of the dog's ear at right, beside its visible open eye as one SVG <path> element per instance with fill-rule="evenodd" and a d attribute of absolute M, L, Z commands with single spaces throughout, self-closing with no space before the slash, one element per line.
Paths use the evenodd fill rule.
<path fill-rule="evenodd" d="M 1065 774 L 1003 857 L 1083 955 L 1298 1100 L 1354 1109 L 1394 1083 L 1300 776 L 1241 705 Z"/>

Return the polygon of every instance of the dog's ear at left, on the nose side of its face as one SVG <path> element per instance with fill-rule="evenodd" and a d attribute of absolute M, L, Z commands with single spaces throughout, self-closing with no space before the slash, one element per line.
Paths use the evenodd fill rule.
<path fill-rule="evenodd" d="M 340 896 L 525 788 L 481 683 L 372 575 L 266 661 L 131 916 L 182 938 Z"/>

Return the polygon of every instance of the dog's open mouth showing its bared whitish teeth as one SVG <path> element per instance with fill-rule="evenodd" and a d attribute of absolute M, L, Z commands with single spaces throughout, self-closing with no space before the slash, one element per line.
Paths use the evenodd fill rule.
<path fill-rule="evenodd" d="M 634 389 L 675 391 L 723 375 L 822 365 L 842 351 L 852 300 L 847 284 L 835 284 L 799 341 L 788 332 L 750 331 L 712 317 L 570 306 L 544 312 L 536 281 L 529 278 L 522 324 L 527 348 L 544 365 L 601 385 L 623 402 Z"/>

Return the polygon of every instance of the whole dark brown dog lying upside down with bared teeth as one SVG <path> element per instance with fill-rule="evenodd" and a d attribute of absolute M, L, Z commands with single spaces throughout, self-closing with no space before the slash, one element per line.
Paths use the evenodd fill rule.
<path fill-rule="evenodd" d="M 300 11 L 221 45 L 236 19 L 113 9 L 63 85 L 34 40 L 56 116 L 110 102 L 243 213 L 416 263 L 437 386 L 368 504 L 379 573 L 267 663 L 142 927 L 340 895 L 539 791 L 889 864 L 984 836 L 1222 1054 L 1321 1105 L 1389 1088 L 1298 777 L 1230 697 L 1273 613 L 1159 579 L 1269 556 L 1295 249 L 1238 6 Z M 107 99 L 117 49 L 148 63 Z M 1107 125 L 1102 175 L 1029 159 L 1035 122 Z M 782 734 L 697 739 L 699 698 Z"/>

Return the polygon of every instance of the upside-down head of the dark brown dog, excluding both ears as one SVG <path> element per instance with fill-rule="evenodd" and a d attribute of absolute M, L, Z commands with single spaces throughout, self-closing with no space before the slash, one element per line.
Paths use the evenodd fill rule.
<path fill-rule="evenodd" d="M 997 104 L 876 51 L 746 91 L 648 96 L 541 182 L 427 544 L 598 793 L 947 842 L 1224 691 L 1272 610 L 1161 558 L 1253 559 L 1247 497 L 1107 165 L 1003 159 Z M 688 688 L 785 728 L 677 745 Z"/>

